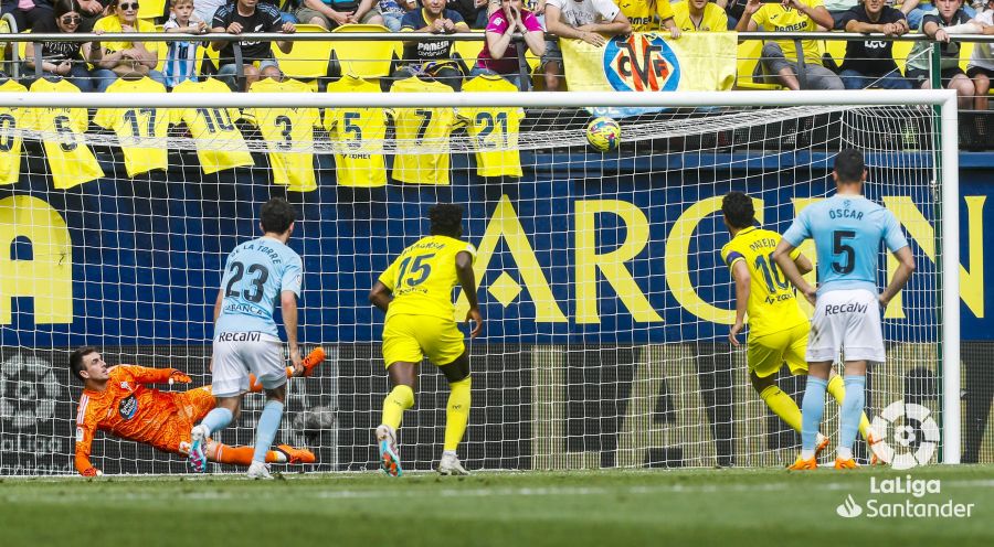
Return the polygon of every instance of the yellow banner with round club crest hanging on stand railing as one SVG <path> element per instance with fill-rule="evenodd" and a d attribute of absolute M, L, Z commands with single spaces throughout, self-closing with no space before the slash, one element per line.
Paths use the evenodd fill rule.
<path fill-rule="evenodd" d="M 738 34 L 663 33 L 615 36 L 603 47 L 562 40 L 567 84 L 572 92 L 716 92 L 736 82 Z M 667 34 L 668 35 L 668 34 Z M 656 109 L 610 108 L 593 114 L 625 117 Z"/>

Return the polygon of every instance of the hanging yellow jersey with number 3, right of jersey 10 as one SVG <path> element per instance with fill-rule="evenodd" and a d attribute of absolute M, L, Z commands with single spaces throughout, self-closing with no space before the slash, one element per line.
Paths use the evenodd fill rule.
<path fill-rule="evenodd" d="M 310 86 L 296 81 L 266 78 L 250 93 L 313 93 Z M 314 128 L 321 126 L 317 108 L 250 108 L 246 112 L 266 140 L 273 182 L 293 192 L 317 190 L 314 176 Z"/>

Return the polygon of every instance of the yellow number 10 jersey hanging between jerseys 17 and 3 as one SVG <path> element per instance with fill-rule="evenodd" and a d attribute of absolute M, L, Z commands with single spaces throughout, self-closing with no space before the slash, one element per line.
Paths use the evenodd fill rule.
<path fill-rule="evenodd" d="M 203 82 L 188 79 L 173 87 L 172 93 L 231 93 L 231 89 L 214 78 Z M 234 124 L 241 117 L 237 108 L 179 108 L 172 111 L 172 124 L 187 124 L 201 169 L 211 174 L 255 164 L 242 131 Z"/>

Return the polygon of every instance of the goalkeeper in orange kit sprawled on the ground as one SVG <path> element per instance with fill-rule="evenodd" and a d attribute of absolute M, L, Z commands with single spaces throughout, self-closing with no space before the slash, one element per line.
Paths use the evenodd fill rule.
<path fill-rule="evenodd" d="M 304 360 L 303 376 L 310 376 L 325 360 L 320 347 Z M 84 476 L 101 472 L 89 461 L 91 446 L 97 430 L 120 439 L 150 444 L 151 447 L 183 457 L 190 453 L 190 429 L 214 406 L 211 386 L 187 392 L 160 392 L 147 387 L 150 384 L 189 384 L 190 377 L 176 368 L 149 368 L 137 365 L 108 366 L 96 347 L 87 346 L 70 355 L 70 371 L 83 382 L 83 395 L 76 410 L 76 471 Z M 293 376 L 293 368 L 286 368 Z M 252 392 L 261 392 L 262 385 L 251 378 Z M 204 452 L 210 461 L 232 465 L 252 463 L 252 447 L 229 447 L 208 440 Z M 266 452 L 271 463 L 314 463 L 307 449 L 281 444 Z"/>

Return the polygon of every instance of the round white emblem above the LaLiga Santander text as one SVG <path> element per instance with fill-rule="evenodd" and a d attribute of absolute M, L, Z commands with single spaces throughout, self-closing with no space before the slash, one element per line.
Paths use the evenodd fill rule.
<path fill-rule="evenodd" d="M 898 421 L 900 423 L 897 423 Z M 896 448 L 887 442 L 887 432 L 891 426 Z M 874 446 L 874 452 L 897 470 L 924 465 L 932 459 L 939 444 L 939 426 L 932 419 L 931 412 L 928 408 L 913 403 L 905 404 L 903 400 L 891 403 L 880 416 L 874 417 L 873 427 L 885 439 Z"/>

